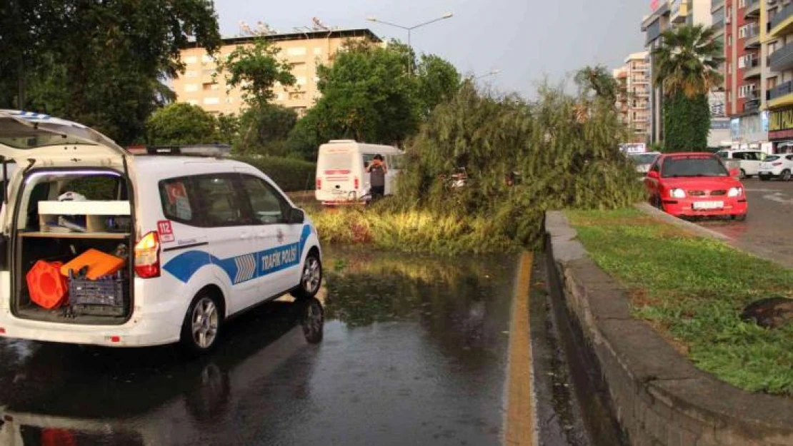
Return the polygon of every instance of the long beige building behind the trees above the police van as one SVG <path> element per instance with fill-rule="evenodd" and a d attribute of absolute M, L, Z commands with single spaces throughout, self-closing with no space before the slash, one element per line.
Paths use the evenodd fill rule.
<path fill-rule="evenodd" d="M 291 64 L 292 74 L 297 79 L 294 86 L 275 86 L 274 103 L 294 109 L 298 115 L 305 113 L 320 97 L 316 87 L 319 80 L 316 77 L 317 67 L 331 63 L 333 55 L 344 47 L 347 40 L 381 43 L 380 38 L 369 29 L 293 32 L 262 37 L 281 48 L 279 57 Z M 256 38 L 226 38 L 214 56 L 198 46 L 182 49 L 181 58 L 186 71 L 173 80 L 176 101 L 198 105 L 213 114 L 239 114 L 245 108 L 243 92 L 228 86 L 224 75 L 214 75 L 217 71 L 215 57 L 228 57 L 238 46 L 250 45 Z"/>

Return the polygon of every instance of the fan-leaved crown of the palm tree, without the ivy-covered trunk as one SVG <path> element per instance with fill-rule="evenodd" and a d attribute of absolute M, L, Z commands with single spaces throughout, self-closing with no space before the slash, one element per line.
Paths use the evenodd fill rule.
<path fill-rule="evenodd" d="M 722 85 L 718 67 L 724 51 L 722 42 L 714 40 L 715 33 L 711 27 L 684 25 L 661 34 L 663 44 L 653 50 L 653 82 L 663 85 L 667 96 L 695 97 Z"/>

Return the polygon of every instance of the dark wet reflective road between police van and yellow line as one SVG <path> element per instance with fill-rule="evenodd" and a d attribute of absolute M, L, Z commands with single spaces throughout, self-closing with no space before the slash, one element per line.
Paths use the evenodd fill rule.
<path fill-rule="evenodd" d="M 515 257 L 324 268 L 318 344 L 288 300 L 199 359 L 0 341 L 0 444 L 500 444 Z"/>

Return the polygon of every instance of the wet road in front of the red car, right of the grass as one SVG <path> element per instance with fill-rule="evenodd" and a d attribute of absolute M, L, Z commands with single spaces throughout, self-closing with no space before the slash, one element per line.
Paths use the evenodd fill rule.
<path fill-rule="evenodd" d="M 745 222 L 699 224 L 734 239 L 734 244 L 793 268 L 793 181 L 744 181 L 749 201 Z"/>

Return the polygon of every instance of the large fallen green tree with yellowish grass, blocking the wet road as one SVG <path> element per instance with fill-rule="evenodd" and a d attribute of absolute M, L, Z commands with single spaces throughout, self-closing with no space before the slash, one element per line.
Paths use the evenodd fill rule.
<path fill-rule="evenodd" d="M 619 152 L 613 104 L 542 87 L 538 100 L 467 84 L 408 145 L 397 196 L 328 217 L 320 234 L 403 250 L 458 253 L 539 246 L 548 209 L 619 208 L 642 199 Z M 464 169 L 463 187 L 444 177 Z M 344 223 L 347 223 L 345 225 Z"/>

